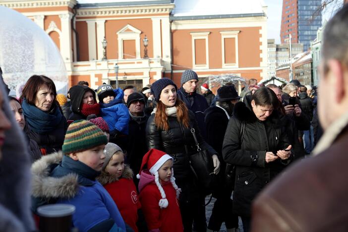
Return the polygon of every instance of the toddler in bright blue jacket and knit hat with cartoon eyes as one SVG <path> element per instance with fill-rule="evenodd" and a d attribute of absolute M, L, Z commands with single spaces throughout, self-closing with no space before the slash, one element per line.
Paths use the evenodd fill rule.
<path fill-rule="evenodd" d="M 98 87 L 97 94 L 101 116 L 110 129 L 110 139 L 119 135 L 128 135 L 129 113 L 128 108 L 122 103 L 123 91 L 103 83 Z"/>

